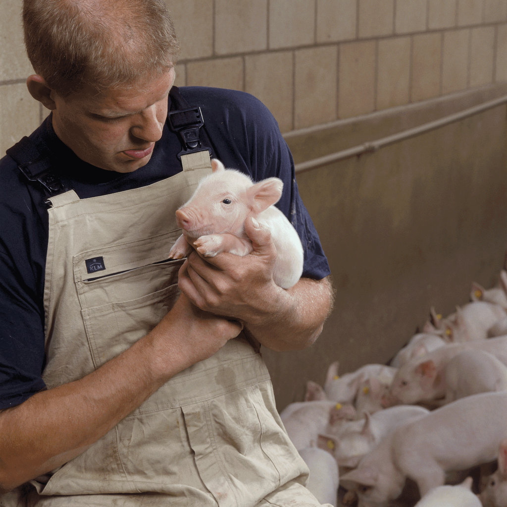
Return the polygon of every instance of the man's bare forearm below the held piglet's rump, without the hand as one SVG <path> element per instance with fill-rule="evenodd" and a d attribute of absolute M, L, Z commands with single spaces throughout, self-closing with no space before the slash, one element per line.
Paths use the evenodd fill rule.
<path fill-rule="evenodd" d="M 310 346 L 322 331 L 333 306 L 330 278 L 302 278 L 290 289 L 277 288 L 265 315 L 245 324 L 268 349 L 282 352 Z"/>

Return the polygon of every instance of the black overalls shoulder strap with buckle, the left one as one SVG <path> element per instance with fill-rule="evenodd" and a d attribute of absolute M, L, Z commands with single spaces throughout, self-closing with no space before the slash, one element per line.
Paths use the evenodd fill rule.
<path fill-rule="evenodd" d="M 18 164 L 19 170 L 29 182 L 42 187 L 47 198 L 68 190 L 53 161 L 30 138 L 25 136 L 9 148 L 7 154 Z"/>

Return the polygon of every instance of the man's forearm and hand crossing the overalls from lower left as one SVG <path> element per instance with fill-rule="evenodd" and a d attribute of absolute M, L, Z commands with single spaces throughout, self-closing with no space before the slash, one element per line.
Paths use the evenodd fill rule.
<path fill-rule="evenodd" d="M 86 377 L 0 413 L 0 493 L 84 452 L 179 371 L 219 350 L 240 324 L 180 296 L 148 335 Z"/>

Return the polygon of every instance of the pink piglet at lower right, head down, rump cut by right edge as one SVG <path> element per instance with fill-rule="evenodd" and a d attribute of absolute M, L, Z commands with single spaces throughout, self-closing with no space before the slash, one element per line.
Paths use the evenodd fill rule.
<path fill-rule="evenodd" d="M 400 496 L 407 478 L 424 496 L 444 485 L 446 471 L 495 459 L 498 445 L 507 438 L 505 421 L 507 392 L 453 401 L 397 427 L 340 483 L 357 487 L 358 507 L 384 507 Z"/>

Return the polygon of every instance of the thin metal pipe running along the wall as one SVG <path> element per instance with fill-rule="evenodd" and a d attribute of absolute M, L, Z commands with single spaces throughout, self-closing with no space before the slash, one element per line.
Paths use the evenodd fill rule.
<path fill-rule="evenodd" d="M 424 123 L 422 125 L 419 125 L 418 127 L 409 128 L 402 132 L 392 134 L 391 136 L 377 139 L 376 141 L 363 143 L 361 145 L 354 146 L 353 148 L 347 148 L 346 150 L 331 153 L 330 155 L 324 155 L 323 157 L 318 157 L 314 158 L 313 160 L 301 162 L 295 165 L 296 173 L 302 173 L 303 171 L 316 169 L 317 167 L 322 167 L 323 165 L 328 165 L 330 163 L 337 162 L 338 160 L 343 160 L 345 158 L 361 155 L 363 153 L 372 153 L 374 151 L 379 150 L 380 148 L 383 148 L 384 146 L 388 146 L 393 143 L 397 143 L 400 141 L 404 141 L 406 139 L 413 138 L 415 136 L 419 136 L 420 134 L 429 132 L 430 130 L 435 130 L 445 125 L 449 125 L 450 123 L 454 123 L 456 121 L 463 120 L 464 118 L 468 118 L 469 116 L 474 116 L 476 114 L 482 113 L 483 111 L 487 111 L 488 109 L 500 106 L 501 104 L 504 104 L 506 102 L 507 95 L 503 95 L 502 97 L 489 100 L 488 102 L 480 104 L 479 106 L 464 109 L 459 113 L 445 116 L 444 118 L 440 118 L 439 120 Z"/>

